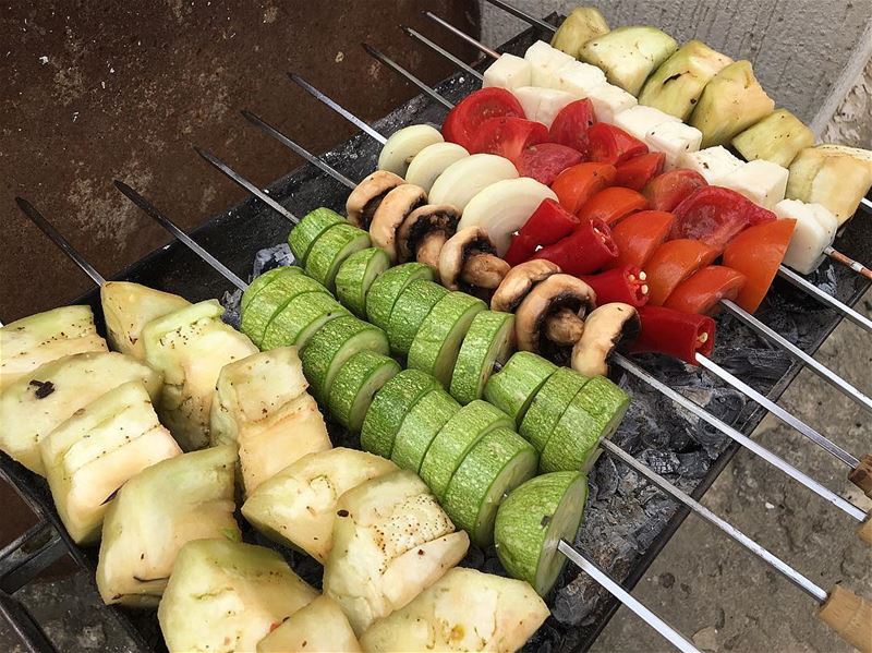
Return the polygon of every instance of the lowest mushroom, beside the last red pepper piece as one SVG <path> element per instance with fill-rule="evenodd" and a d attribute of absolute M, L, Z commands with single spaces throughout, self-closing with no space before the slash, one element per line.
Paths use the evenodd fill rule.
<path fill-rule="evenodd" d="M 584 332 L 572 348 L 572 370 L 584 376 L 608 374 L 608 356 L 632 343 L 642 329 L 639 312 L 630 304 L 603 304 L 588 315 Z"/>

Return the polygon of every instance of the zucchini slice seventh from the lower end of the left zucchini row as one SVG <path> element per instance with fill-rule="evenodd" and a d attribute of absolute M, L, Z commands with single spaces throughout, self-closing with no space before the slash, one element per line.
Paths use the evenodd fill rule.
<path fill-rule="evenodd" d="M 390 350 L 385 331 L 346 315 L 331 319 L 312 336 L 301 359 L 310 390 L 319 403 L 327 401 L 337 373 L 359 351 L 387 355 Z"/>

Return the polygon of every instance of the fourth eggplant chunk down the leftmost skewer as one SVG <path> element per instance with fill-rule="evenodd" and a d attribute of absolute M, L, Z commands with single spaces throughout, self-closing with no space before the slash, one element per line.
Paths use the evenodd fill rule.
<path fill-rule="evenodd" d="M 235 464 L 233 447 L 209 447 L 153 464 L 118 491 L 97 563 L 104 603 L 157 607 L 182 546 L 242 540 L 233 519 Z"/>

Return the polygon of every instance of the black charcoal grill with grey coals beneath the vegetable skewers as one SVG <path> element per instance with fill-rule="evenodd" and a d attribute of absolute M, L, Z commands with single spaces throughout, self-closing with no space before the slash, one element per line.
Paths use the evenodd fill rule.
<path fill-rule="evenodd" d="M 549 16 L 550 21 L 555 19 L 554 15 Z M 501 50 L 523 53 L 537 36 L 538 33 L 530 28 L 507 43 Z M 482 68 L 480 65 L 479 70 Z M 469 73 L 459 72 L 435 89 L 450 101 L 458 101 L 476 87 L 476 81 Z M 389 134 L 410 123 L 439 124 L 444 113 L 439 105 L 426 96 L 417 96 L 376 121 L 374 126 L 378 132 Z M 264 140 L 257 146 L 272 145 Z M 366 134 L 358 134 L 322 158 L 346 177 L 356 180 L 373 170 L 378 149 L 378 144 Z M 199 164 L 192 158 L 189 165 Z M 303 215 L 318 206 L 340 210 L 346 199 L 344 188 L 312 166 L 291 171 L 270 184 L 267 192 L 295 215 Z M 38 197 L 33 199 L 38 201 Z M 172 207 L 164 208 L 171 215 Z M 216 216 L 192 237 L 232 273 L 247 279 L 265 267 L 277 264 L 277 255 L 281 250 L 275 245 L 284 241 L 287 231 L 288 223 L 282 217 L 261 201 L 250 198 Z M 872 252 L 872 222 L 855 221 L 850 240 L 843 241 L 840 246 L 846 255 L 870 263 L 868 253 Z M 234 319 L 239 293 L 221 275 L 179 242 L 154 252 L 116 278 L 174 292 L 191 301 L 222 298 L 222 303 L 229 310 L 228 318 Z M 868 279 L 832 262 L 824 263 L 812 280 L 848 305 L 853 305 L 872 285 Z M 76 303 L 92 305 L 99 316 L 97 290 L 85 294 Z M 758 316 L 810 353 L 825 341 L 841 319 L 840 315 L 784 280 L 775 281 L 768 302 Z M 730 315 L 719 318 L 716 360 L 773 400 L 784 392 L 801 368 L 787 353 L 771 347 Z M 748 400 L 744 395 L 725 387 L 701 368 L 690 368 L 650 354 L 640 356 L 639 363 L 670 388 L 692 395 L 694 401 L 711 414 L 744 434 L 750 434 L 766 413 L 765 409 Z M 692 497 L 701 497 L 740 446 L 701 422 L 693 413 L 677 408 L 673 401 L 622 368 L 617 370 L 616 382 L 628 389 L 632 403 L 613 442 Z M 340 432 L 335 425 L 330 435 L 338 445 L 360 445 L 353 436 Z M 65 549 L 93 575 L 97 549 L 82 548 L 72 543 L 59 522 L 45 481 L 5 455 L 0 456 L 0 473 L 43 520 L 38 527 L 0 552 L 0 588 L 8 593 L 14 592 Z M 591 497 L 584 525 L 574 544 L 625 588 L 631 589 L 690 510 L 611 457 L 604 456 L 600 460 L 591 473 L 590 482 Z M 825 508 L 829 506 L 825 505 Z M 240 520 L 240 523 L 244 521 Z M 276 546 L 251 529 L 244 534 L 246 541 Z M 34 551 L 24 553 L 27 549 L 25 545 L 34 543 L 37 544 Z M 305 580 L 318 582 L 317 565 L 289 549 L 282 549 L 282 553 Z M 473 551 L 464 564 L 487 571 L 496 571 L 499 567 L 493 551 Z M 540 629 L 526 650 L 588 649 L 619 602 L 589 576 L 569 566 L 549 605 L 554 616 Z M 47 650 L 50 646 L 38 626 L 14 601 L 4 595 L 2 607 L 7 618 L 25 636 L 32 650 Z M 108 619 L 125 629 L 141 650 L 164 650 L 154 613 L 136 613 L 113 606 L 106 607 L 105 613 Z"/>

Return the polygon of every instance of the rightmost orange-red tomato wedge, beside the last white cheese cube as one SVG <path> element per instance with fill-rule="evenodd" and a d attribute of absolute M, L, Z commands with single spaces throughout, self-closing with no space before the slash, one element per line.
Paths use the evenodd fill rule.
<path fill-rule="evenodd" d="M 796 220 L 784 219 L 749 227 L 724 250 L 724 265 L 748 278 L 736 303 L 749 313 L 756 311 L 766 297 L 790 245 L 796 223 Z"/>

